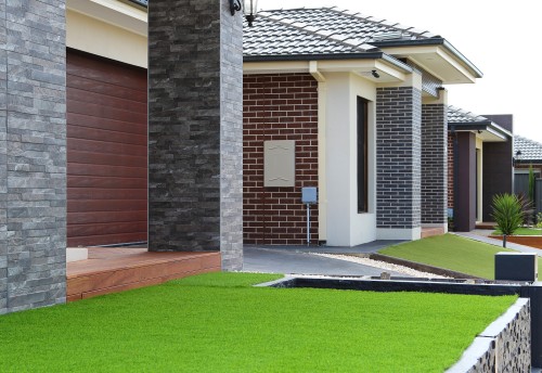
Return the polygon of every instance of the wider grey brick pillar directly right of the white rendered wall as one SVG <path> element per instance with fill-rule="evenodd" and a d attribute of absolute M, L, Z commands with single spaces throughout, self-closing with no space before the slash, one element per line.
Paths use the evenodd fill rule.
<path fill-rule="evenodd" d="M 376 90 L 376 227 L 421 224 L 422 91 Z"/>

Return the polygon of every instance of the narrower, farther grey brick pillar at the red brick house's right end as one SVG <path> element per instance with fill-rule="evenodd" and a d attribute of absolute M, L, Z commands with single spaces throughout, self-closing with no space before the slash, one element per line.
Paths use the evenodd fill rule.
<path fill-rule="evenodd" d="M 422 224 L 447 222 L 447 106 L 422 105 Z"/>

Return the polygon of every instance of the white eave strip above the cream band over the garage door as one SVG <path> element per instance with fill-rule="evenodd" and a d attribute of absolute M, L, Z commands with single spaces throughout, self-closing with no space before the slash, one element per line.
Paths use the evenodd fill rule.
<path fill-rule="evenodd" d="M 66 8 L 131 33 L 147 36 L 147 12 L 117 0 L 67 0 Z"/>

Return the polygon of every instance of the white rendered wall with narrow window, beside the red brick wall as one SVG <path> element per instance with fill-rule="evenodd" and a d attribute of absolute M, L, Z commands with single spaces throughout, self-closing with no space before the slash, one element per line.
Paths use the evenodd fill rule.
<path fill-rule="evenodd" d="M 357 98 L 369 102 L 369 213 L 358 214 Z M 376 240 L 375 136 L 376 89 L 361 77 L 326 74 L 326 232 L 330 246 L 354 246 Z"/>

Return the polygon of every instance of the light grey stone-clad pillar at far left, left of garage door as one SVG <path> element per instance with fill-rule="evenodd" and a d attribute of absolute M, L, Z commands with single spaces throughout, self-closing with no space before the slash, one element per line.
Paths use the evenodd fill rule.
<path fill-rule="evenodd" d="M 65 53 L 64 1 L 0 3 L 0 313 L 66 299 Z"/>

